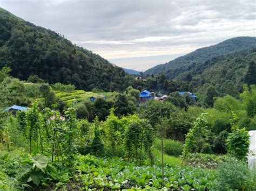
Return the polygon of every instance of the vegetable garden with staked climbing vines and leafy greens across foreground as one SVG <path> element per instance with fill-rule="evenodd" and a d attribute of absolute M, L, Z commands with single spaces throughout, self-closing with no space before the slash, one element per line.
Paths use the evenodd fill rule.
<path fill-rule="evenodd" d="M 118 118 L 113 111 L 105 121 L 96 118 L 89 123 L 77 119 L 75 109 L 69 108 L 63 121 L 59 112 L 49 108 L 39 111 L 34 103 L 16 117 L 5 116 L 0 189 L 214 190 L 223 181 L 218 180 L 218 165 L 228 168 L 231 159 L 244 164 L 228 156 L 191 155 L 187 153 L 193 148 L 188 146 L 193 144 L 190 141 L 183 148 L 177 141 L 165 140 L 163 179 L 156 130 L 137 115 Z M 201 131 L 197 125 L 202 127 L 205 120 L 203 115 L 197 119 L 187 140 Z M 172 146 L 186 154 L 171 150 Z M 255 174 L 248 170 L 245 176 L 249 181 L 240 182 L 240 187 L 252 189 Z"/>

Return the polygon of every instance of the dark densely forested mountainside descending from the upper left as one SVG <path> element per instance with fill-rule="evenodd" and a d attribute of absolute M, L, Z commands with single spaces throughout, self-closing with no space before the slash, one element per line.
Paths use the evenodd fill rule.
<path fill-rule="evenodd" d="M 91 51 L 73 45 L 0 8 L 0 68 L 27 80 L 38 75 L 49 83 L 72 83 L 79 89 L 122 90 L 125 72 Z"/>

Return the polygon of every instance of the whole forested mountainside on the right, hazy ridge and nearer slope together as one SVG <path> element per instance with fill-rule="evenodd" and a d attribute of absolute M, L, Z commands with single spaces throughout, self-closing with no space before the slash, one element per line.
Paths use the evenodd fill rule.
<path fill-rule="evenodd" d="M 238 47 L 238 44 L 242 46 Z M 220 49 L 223 48 L 223 52 L 219 52 L 219 48 L 214 48 L 218 46 Z M 161 94 L 191 91 L 198 96 L 196 104 L 204 104 L 206 89 L 209 86 L 215 87 L 217 96 L 238 97 L 243 84 L 248 83 L 246 80 L 253 79 L 253 63 L 256 60 L 254 46 L 255 38 L 240 37 L 226 40 L 221 45 L 198 49 L 170 63 L 147 70 L 147 88 Z M 213 52 L 208 52 L 210 50 Z M 202 52 L 205 54 L 199 56 Z M 151 73 L 158 76 L 149 77 Z M 247 73 L 250 73 L 251 77 L 247 77 Z M 164 83 L 161 83 L 161 74 L 168 79 Z M 175 102 L 176 98 L 170 100 Z"/>

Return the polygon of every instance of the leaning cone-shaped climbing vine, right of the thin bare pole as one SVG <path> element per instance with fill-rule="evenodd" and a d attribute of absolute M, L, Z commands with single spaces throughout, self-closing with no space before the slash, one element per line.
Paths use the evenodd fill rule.
<path fill-rule="evenodd" d="M 201 114 L 194 122 L 194 126 L 186 135 L 184 154 L 188 152 L 195 153 L 211 153 L 211 145 L 209 144 L 208 121 L 207 114 Z"/>

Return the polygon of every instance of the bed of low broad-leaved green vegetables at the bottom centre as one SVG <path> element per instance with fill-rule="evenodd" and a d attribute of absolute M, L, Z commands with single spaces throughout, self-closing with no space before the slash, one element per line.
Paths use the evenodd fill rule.
<path fill-rule="evenodd" d="M 122 159 L 102 159 L 91 155 L 79 156 L 79 178 L 85 189 L 150 189 L 157 190 L 195 188 L 210 189 L 215 173 L 200 168 L 180 167 L 166 168 L 166 180 L 163 184 L 159 166 L 134 166 Z"/>

